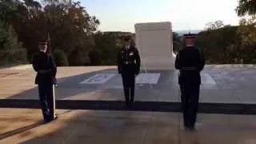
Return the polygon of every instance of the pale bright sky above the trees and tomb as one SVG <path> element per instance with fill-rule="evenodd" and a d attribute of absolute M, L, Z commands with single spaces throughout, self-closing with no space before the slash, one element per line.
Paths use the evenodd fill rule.
<path fill-rule="evenodd" d="M 172 29 L 203 30 L 207 22 L 238 25 L 237 0 L 80 0 L 101 22 L 98 30 L 134 32 L 139 22 L 171 22 Z"/>

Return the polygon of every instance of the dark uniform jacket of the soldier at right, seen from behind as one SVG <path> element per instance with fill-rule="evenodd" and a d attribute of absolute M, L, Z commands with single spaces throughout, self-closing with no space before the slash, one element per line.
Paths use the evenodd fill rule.
<path fill-rule="evenodd" d="M 180 50 L 176 56 L 175 68 L 180 70 L 178 83 L 188 85 L 200 85 L 200 71 L 205 66 L 203 54 L 194 47 L 186 47 Z"/>

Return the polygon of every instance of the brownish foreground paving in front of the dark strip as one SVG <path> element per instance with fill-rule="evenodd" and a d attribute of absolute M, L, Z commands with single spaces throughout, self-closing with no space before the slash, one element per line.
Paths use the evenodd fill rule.
<path fill-rule="evenodd" d="M 198 114 L 198 130 L 182 127 L 182 114 L 58 110 L 57 121 L 42 124 L 40 110 L 0 109 L 0 143 L 174 143 L 251 144 L 256 117 Z"/>

